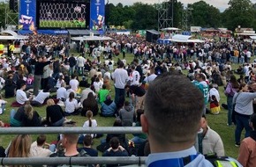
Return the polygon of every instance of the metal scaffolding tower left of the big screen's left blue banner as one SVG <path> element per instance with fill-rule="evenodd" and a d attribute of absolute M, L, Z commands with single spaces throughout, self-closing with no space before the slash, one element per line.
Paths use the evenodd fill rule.
<path fill-rule="evenodd" d="M 13 9 L 10 9 L 11 0 L 5 0 L 5 27 L 15 26 L 18 28 L 19 23 L 19 0 L 12 0 Z"/>

